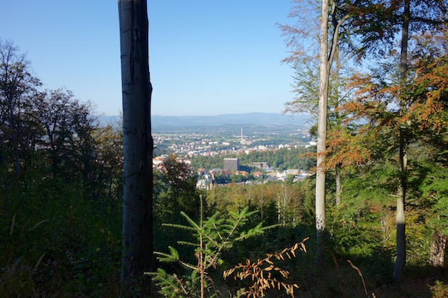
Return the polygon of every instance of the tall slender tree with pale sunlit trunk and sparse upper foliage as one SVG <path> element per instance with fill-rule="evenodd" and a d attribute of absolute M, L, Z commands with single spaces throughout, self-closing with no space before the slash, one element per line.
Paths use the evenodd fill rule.
<path fill-rule="evenodd" d="M 318 148 L 316 169 L 316 234 L 318 240 L 318 255 L 322 250 L 322 238 L 326 230 L 325 211 L 325 152 L 327 142 L 327 126 L 329 116 L 335 118 L 334 124 L 340 122 L 336 110 L 340 98 L 339 72 L 340 58 L 339 39 L 343 24 L 349 19 L 352 3 L 340 1 L 323 1 L 320 18 L 316 13 L 319 4 L 316 1 L 294 1 L 296 6 L 289 17 L 300 20 L 307 19 L 306 24 L 297 22 L 294 25 L 281 25 L 283 35 L 287 36 L 287 46 L 292 48 L 292 55 L 284 61 L 292 63 L 296 70 L 296 98 L 286 103 L 285 111 L 292 113 L 307 112 L 318 120 Z M 305 8 L 305 10 L 304 10 Z M 306 12 L 305 12 L 306 11 Z M 317 19 L 320 21 L 317 22 Z M 309 25 L 314 23 L 315 25 Z M 320 27 L 320 33 L 317 28 Z M 316 42 L 316 40 L 318 42 Z M 305 46 L 306 45 L 306 46 Z M 319 45 L 317 50 L 315 45 Z M 319 57 L 319 58 L 318 58 Z M 336 69 L 332 72 L 333 62 Z M 317 63 L 320 61 L 320 64 Z M 330 83 L 332 81 L 332 83 Z M 330 88 L 330 85 L 332 87 Z M 317 99 L 317 100 L 316 100 Z M 333 114 L 329 114 L 329 106 Z M 340 126 L 340 125 L 339 125 Z M 336 164 L 336 200 L 340 202 L 340 164 Z"/>

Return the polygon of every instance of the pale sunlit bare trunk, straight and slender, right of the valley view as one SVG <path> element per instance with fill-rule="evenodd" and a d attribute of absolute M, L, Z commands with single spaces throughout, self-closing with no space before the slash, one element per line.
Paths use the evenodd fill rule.
<path fill-rule="evenodd" d="M 327 140 L 327 100 L 328 100 L 328 0 L 322 2 L 320 18 L 320 70 L 319 70 L 319 111 L 317 132 L 317 164 L 316 164 L 316 237 L 317 259 L 323 253 L 327 218 L 325 214 L 325 142 Z"/>

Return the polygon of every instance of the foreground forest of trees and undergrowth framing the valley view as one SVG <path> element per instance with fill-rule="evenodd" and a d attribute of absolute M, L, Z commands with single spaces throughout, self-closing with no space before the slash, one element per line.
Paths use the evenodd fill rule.
<path fill-rule="evenodd" d="M 448 297 L 446 4 L 294 1 L 314 175 L 207 191 L 152 168 L 146 1 L 119 1 L 123 123 L 0 39 L 0 297 Z"/>

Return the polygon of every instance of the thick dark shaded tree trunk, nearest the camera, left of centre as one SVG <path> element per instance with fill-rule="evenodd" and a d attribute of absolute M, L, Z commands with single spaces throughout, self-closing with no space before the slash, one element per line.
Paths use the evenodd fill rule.
<path fill-rule="evenodd" d="M 153 270 L 152 136 L 146 0 L 119 0 L 123 89 L 123 255 L 126 284 Z"/>

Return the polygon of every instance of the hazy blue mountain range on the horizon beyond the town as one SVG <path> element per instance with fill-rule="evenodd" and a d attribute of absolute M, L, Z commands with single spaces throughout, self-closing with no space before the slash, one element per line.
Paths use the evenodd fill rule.
<path fill-rule="evenodd" d="M 152 127 L 192 127 L 220 125 L 306 125 L 310 116 L 306 114 L 284 115 L 275 113 L 224 114 L 216 116 L 159 116 L 151 118 Z M 100 116 L 101 125 L 114 123 L 119 116 Z"/>

